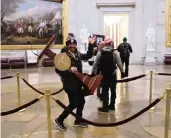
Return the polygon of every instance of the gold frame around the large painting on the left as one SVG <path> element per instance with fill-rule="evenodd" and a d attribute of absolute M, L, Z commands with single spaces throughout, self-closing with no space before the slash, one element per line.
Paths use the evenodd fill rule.
<path fill-rule="evenodd" d="M 62 33 L 63 33 L 63 44 L 54 45 L 54 49 L 60 49 L 64 47 L 64 42 L 68 35 L 68 0 L 47 0 L 51 2 L 60 2 L 62 3 Z M 38 50 L 43 49 L 46 46 L 44 45 L 1 45 L 1 50 Z"/>

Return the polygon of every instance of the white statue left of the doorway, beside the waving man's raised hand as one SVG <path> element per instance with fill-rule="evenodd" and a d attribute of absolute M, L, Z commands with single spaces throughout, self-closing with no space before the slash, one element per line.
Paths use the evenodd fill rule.
<path fill-rule="evenodd" d="M 81 28 L 80 30 L 80 40 L 81 40 L 81 44 L 85 48 L 85 51 L 87 50 L 88 37 L 89 37 L 88 29 L 86 28 L 85 24 L 83 24 L 83 28 Z"/>

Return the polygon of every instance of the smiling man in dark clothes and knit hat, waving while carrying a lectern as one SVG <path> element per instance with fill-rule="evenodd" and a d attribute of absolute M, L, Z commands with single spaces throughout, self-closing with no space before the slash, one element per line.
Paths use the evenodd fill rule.
<path fill-rule="evenodd" d="M 85 104 L 82 83 L 81 81 L 73 74 L 73 72 L 82 73 L 82 62 L 81 60 L 88 60 L 93 55 L 93 47 L 95 45 L 95 38 L 89 39 L 89 47 L 86 54 L 82 54 L 77 50 L 77 41 L 73 34 L 70 34 L 66 40 L 66 47 L 61 51 L 65 52 L 71 60 L 71 67 L 67 71 L 59 71 L 56 69 L 56 72 L 60 74 L 61 80 L 65 92 L 69 98 L 69 105 L 63 111 L 63 113 L 55 119 L 56 126 L 64 131 L 66 130 L 65 125 L 63 124 L 66 117 L 69 115 L 68 111 L 73 111 L 76 108 L 76 114 L 79 117 L 82 117 L 82 111 Z M 88 125 L 79 118 L 76 118 L 74 126 L 77 127 L 87 127 Z"/>

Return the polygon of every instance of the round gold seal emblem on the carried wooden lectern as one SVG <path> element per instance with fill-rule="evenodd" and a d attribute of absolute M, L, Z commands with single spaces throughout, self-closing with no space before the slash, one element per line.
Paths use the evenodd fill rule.
<path fill-rule="evenodd" d="M 60 53 L 55 56 L 54 65 L 58 70 L 66 71 L 71 66 L 71 60 L 66 53 Z"/>

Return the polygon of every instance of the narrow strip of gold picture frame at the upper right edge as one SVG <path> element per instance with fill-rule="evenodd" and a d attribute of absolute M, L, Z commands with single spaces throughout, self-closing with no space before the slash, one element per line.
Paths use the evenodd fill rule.
<path fill-rule="evenodd" d="M 171 1 L 166 0 L 166 47 L 171 48 Z"/>

